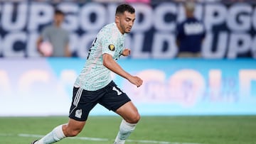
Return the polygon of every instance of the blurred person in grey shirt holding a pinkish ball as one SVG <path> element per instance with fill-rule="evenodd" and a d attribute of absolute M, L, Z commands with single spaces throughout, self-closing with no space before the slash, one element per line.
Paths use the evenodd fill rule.
<path fill-rule="evenodd" d="M 51 26 L 43 28 L 43 31 L 36 43 L 38 51 L 41 52 L 43 56 L 71 56 L 71 52 L 69 50 L 68 31 L 66 31 L 64 28 L 61 28 L 64 18 L 65 16 L 63 11 L 55 10 L 53 24 Z M 51 48 L 52 50 L 50 50 Z M 47 54 L 45 52 L 47 52 Z"/>

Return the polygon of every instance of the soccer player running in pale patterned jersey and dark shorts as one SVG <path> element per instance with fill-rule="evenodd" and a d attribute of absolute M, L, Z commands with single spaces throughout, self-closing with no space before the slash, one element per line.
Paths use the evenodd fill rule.
<path fill-rule="evenodd" d="M 124 48 L 124 37 L 131 31 L 135 21 L 135 10 L 128 4 L 117 6 L 114 23 L 104 26 L 92 43 L 85 67 L 83 67 L 73 88 L 69 121 L 57 126 L 50 133 L 32 144 L 55 143 L 66 137 L 78 135 L 85 126 L 87 116 L 96 104 L 122 116 L 115 144 L 123 144 L 134 131 L 139 113 L 131 99 L 114 84 L 111 71 L 140 87 L 142 79 L 124 71 L 116 60 L 127 56 L 130 50 Z"/>

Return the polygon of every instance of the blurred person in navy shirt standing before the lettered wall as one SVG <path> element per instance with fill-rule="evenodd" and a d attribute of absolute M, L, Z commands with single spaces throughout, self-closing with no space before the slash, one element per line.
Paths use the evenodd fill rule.
<path fill-rule="evenodd" d="M 178 57 L 201 57 L 201 44 L 205 38 L 206 31 L 203 23 L 193 14 L 195 8 L 193 1 L 184 3 L 186 19 L 178 23 L 176 30 Z"/>

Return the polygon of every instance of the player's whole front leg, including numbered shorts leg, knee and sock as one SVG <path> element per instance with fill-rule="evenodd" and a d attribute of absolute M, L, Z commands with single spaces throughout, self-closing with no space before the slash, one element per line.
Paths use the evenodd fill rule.
<path fill-rule="evenodd" d="M 102 96 L 99 103 L 124 118 L 119 126 L 119 133 L 115 140 L 115 143 L 122 144 L 129 137 L 130 133 L 134 131 L 140 116 L 131 99 L 117 87 L 117 84 L 111 82 L 105 87 L 105 91 L 107 94 Z"/>

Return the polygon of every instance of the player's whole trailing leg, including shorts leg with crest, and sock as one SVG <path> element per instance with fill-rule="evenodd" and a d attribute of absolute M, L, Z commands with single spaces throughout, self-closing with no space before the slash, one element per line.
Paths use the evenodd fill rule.
<path fill-rule="evenodd" d="M 90 110 L 97 104 L 90 99 L 94 94 L 87 92 L 81 88 L 74 87 L 73 101 L 70 106 L 69 121 L 66 124 L 57 126 L 46 136 L 33 144 L 50 144 L 58 142 L 65 137 L 73 137 L 78 135 L 85 126 L 85 121 L 90 113 Z"/>

